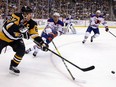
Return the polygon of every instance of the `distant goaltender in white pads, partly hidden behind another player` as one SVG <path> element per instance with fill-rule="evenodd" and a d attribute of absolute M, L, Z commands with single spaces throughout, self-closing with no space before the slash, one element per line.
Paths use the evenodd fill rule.
<path fill-rule="evenodd" d="M 72 20 L 73 20 L 73 18 L 71 17 L 71 15 L 68 15 L 68 17 L 65 20 L 65 26 L 68 29 L 68 31 L 70 29 L 73 34 L 76 34 L 76 30 L 72 24 Z"/>

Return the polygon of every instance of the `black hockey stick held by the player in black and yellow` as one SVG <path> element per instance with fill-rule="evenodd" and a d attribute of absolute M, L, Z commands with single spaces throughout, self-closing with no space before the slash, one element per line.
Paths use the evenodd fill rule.
<path fill-rule="evenodd" d="M 41 47 L 41 45 L 37 41 L 34 41 L 34 42 Z M 87 68 L 81 68 L 81 67 L 75 65 L 74 63 L 70 62 L 69 60 L 65 59 L 64 57 L 60 56 L 59 54 L 55 53 L 54 51 L 50 50 L 49 48 L 47 48 L 47 49 L 50 52 L 52 52 L 53 54 L 57 55 L 59 58 L 65 60 L 66 62 L 70 63 L 71 65 L 75 66 L 76 68 L 78 68 L 79 70 L 81 70 L 83 72 L 90 71 L 90 70 L 93 70 L 95 68 L 95 66 L 90 66 L 90 67 L 87 67 Z"/>

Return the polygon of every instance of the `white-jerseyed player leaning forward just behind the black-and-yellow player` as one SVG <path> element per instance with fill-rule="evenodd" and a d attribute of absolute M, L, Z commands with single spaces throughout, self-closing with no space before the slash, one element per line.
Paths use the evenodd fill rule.
<path fill-rule="evenodd" d="M 55 12 L 53 17 L 48 19 L 48 24 L 43 30 L 41 37 L 46 44 L 49 44 L 56 36 L 63 34 L 64 23 L 59 20 L 60 14 Z M 39 51 L 39 46 L 35 45 L 32 48 L 26 50 L 26 54 L 33 51 L 33 56 L 36 56 Z"/>

